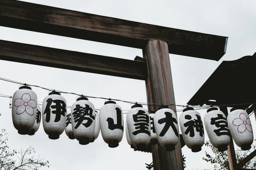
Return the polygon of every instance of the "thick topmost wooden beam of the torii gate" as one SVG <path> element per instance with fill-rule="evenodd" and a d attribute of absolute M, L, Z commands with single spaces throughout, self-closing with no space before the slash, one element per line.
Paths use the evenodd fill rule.
<path fill-rule="evenodd" d="M 0 1 L 0 26 L 144 49 L 164 40 L 169 53 L 218 61 L 228 37 L 185 31 L 16 0 Z"/>

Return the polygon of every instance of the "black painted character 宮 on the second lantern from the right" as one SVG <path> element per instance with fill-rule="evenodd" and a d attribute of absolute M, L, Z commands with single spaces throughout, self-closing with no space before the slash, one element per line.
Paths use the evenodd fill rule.
<path fill-rule="evenodd" d="M 211 125 L 215 125 L 217 128 L 219 128 L 219 129 L 213 130 L 213 132 L 215 132 L 217 136 L 220 136 L 220 135 L 230 136 L 227 119 L 224 118 L 222 114 L 217 114 L 217 116 L 218 117 L 216 118 L 211 118 Z M 219 121 L 216 121 L 216 120 L 219 120 Z"/>

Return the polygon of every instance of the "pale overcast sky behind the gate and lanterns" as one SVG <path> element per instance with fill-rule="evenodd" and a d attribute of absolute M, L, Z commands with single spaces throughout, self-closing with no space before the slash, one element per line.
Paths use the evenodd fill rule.
<path fill-rule="evenodd" d="M 201 85 L 223 60 L 235 60 L 256 52 L 256 1 L 170 1 L 170 0 L 26 0 L 53 7 L 66 8 L 130 21 L 179 28 L 207 34 L 228 36 L 227 53 L 218 62 L 170 54 L 176 104 L 185 105 Z M 87 52 L 133 60 L 136 55 L 142 57 L 142 50 L 128 47 L 86 41 L 56 35 L 0 27 L 0 39 L 65 50 Z M 92 73 L 77 72 L 58 68 L 21 64 L 0 60 L 0 77 L 19 82 L 39 85 L 65 92 L 75 92 L 97 97 L 146 102 L 145 81 L 118 78 Z M 0 94 L 13 95 L 17 84 L 0 81 Z M 40 88 L 32 88 L 43 101 L 48 94 Z M 63 94 L 67 105 L 71 106 L 76 96 Z M 89 99 L 100 108 L 101 99 Z M 26 149 L 30 145 L 49 160 L 53 170 L 68 169 L 106 169 L 106 170 L 143 170 L 145 163 L 152 162 L 150 153 L 134 152 L 130 149 L 126 136 L 119 147 L 111 149 L 102 136 L 94 143 L 82 146 L 77 140 L 70 140 L 65 133 L 58 140 L 50 140 L 41 124 L 34 136 L 19 135 L 13 127 L 9 99 L 0 97 L 0 128 L 9 135 L 10 149 Z M 130 104 L 117 102 L 123 110 L 129 110 Z M 145 107 L 146 108 L 146 107 Z M 127 111 L 124 111 L 125 113 Z M 199 111 L 204 117 L 206 110 Z M 178 118 L 181 112 L 178 112 Z M 256 122 L 251 117 L 254 136 Z M 126 120 L 126 115 L 124 115 Z M 206 140 L 208 139 L 206 135 Z M 198 166 L 211 167 L 202 160 L 206 147 L 198 153 L 192 153 L 186 146 L 182 154 L 186 157 L 189 169 Z M 43 168 L 46 169 L 46 168 Z"/>

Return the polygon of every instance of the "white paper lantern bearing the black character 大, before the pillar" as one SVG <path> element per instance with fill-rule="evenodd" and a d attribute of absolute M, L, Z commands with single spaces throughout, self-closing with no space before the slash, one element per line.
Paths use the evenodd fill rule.
<path fill-rule="evenodd" d="M 168 106 L 161 106 L 154 116 L 157 139 L 166 151 L 172 151 L 179 141 L 177 116 Z"/>

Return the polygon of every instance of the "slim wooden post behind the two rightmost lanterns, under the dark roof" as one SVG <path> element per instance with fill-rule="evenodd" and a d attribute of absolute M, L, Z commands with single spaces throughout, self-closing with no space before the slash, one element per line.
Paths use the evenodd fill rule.
<path fill-rule="evenodd" d="M 226 115 L 226 117 L 228 117 L 228 108 L 226 106 L 220 106 L 220 111 L 222 111 Z M 229 158 L 230 170 L 235 170 L 237 166 L 237 162 L 236 162 L 233 138 L 231 134 L 230 134 L 230 144 L 228 146 L 227 154 Z"/>

